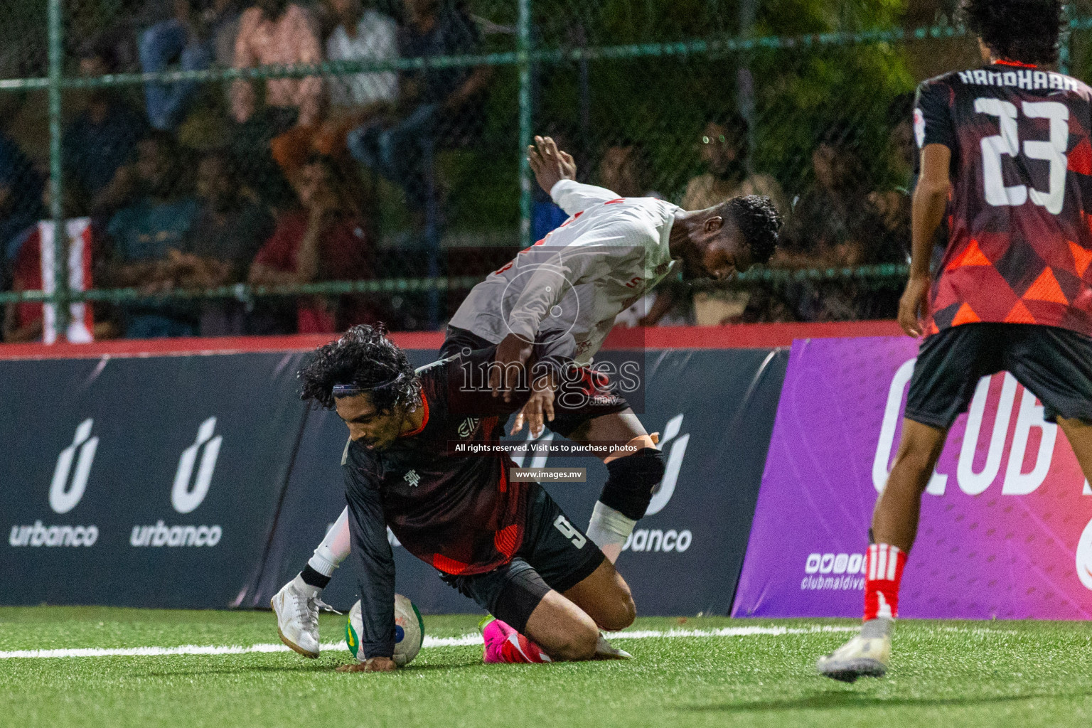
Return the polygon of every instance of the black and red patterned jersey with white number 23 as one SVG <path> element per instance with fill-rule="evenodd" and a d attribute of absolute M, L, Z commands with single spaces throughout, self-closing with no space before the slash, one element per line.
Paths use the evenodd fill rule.
<path fill-rule="evenodd" d="M 1092 335 L 1092 89 L 999 62 L 917 89 L 917 145 L 952 152 L 926 335 L 978 321 Z"/>

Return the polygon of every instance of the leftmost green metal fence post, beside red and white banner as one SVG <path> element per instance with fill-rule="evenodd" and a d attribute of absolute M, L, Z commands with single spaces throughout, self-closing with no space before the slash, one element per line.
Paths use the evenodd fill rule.
<path fill-rule="evenodd" d="M 61 72 L 64 63 L 63 9 L 49 0 L 49 213 L 54 220 L 54 295 L 57 338 L 68 338 L 68 235 L 61 189 Z"/>

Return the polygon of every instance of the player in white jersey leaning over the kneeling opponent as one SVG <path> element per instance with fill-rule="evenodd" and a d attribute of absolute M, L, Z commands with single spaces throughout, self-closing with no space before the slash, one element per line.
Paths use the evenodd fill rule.
<path fill-rule="evenodd" d="M 735 198 L 693 212 L 654 198 L 619 198 L 577 182 L 572 157 L 548 136 L 535 142 L 532 170 L 569 218 L 474 287 L 451 318 L 440 351 L 446 357 L 497 345 L 496 396 L 508 398 L 526 375 L 536 344 L 548 342 L 554 353 L 590 362 L 615 318 L 679 266 L 685 277 L 726 278 L 773 253 L 781 218 L 768 198 Z M 663 477 L 663 455 L 628 407 L 585 421 L 555 417 L 556 385 L 546 377 L 535 382 L 512 432 L 526 422 L 537 437 L 548 422 L 575 442 L 612 443 L 587 536 L 614 562 Z M 605 382 L 587 385 L 597 390 Z M 348 553 L 342 512 L 307 568 L 273 598 L 281 639 L 302 655 L 318 656 L 319 594 Z"/>

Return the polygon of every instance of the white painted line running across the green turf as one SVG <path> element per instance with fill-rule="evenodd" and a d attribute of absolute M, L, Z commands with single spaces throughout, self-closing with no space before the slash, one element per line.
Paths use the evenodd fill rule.
<path fill-rule="evenodd" d="M 750 637 L 759 635 L 781 636 L 785 634 L 821 634 L 829 632 L 856 632 L 857 626 L 834 624 L 815 624 L 811 626 L 725 626 L 719 630 L 630 630 L 628 632 L 612 632 L 612 640 L 646 640 L 677 637 Z M 989 630 L 983 628 L 942 628 L 945 631 L 968 631 L 989 634 L 1009 634 L 1009 630 Z M 434 637 L 425 635 L 422 644 L 430 647 L 460 647 L 482 644 L 482 635 L 470 632 L 456 637 Z M 321 649 L 345 649 L 344 642 L 325 642 Z M 282 644 L 258 645 L 181 645 L 178 647 L 80 647 L 74 649 L 13 649 L 0 652 L 0 659 L 34 659 L 47 657 L 159 657 L 164 655 L 245 655 L 247 653 L 282 653 L 288 647 Z"/>

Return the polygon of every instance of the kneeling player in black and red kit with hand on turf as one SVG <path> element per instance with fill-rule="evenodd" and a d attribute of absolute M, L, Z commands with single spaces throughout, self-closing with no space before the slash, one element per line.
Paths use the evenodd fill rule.
<path fill-rule="evenodd" d="M 550 356 L 548 345 L 536 349 L 532 369 L 573 380 L 560 373 L 571 362 Z M 464 350 L 414 371 L 381 326 L 359 325 L 320 347 L 299 372 L 304 398 L 336 409 L 349 430 L 342 465 L 365 658 L 341 670 L 395 669 L 388 526 L 497 618 L 486 628 L 487 661 L 628 657 L 600 634 L 628 626 L 637 613 L 610 561 L 538 484 L 509 479 L 514 464 L 506 453 L 456 452 L 498 445 L 503 422 L 531 394 L 523 384 L 508 402 L 492 396 L 495 355 L 495 346 Z M 591 419 L 629 406 L 589 390 L 590 381 L 562 383 L 555 408 Z"/>

